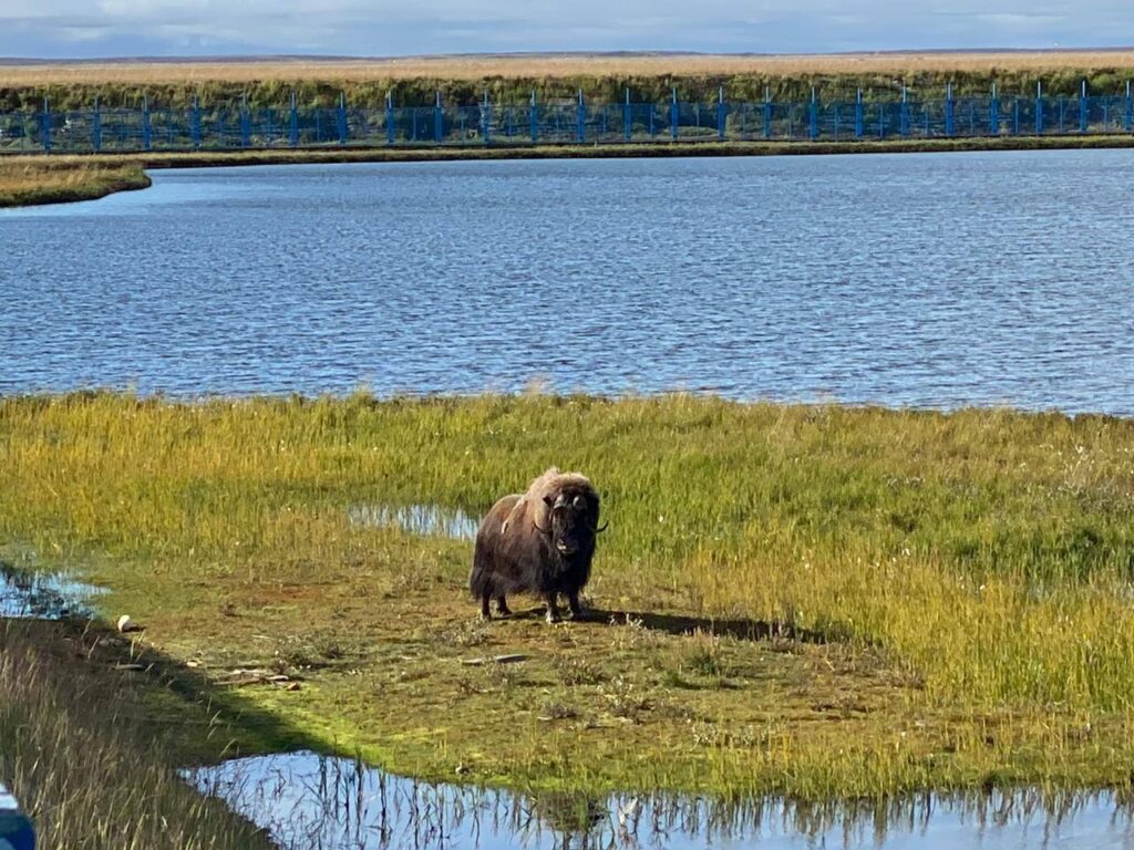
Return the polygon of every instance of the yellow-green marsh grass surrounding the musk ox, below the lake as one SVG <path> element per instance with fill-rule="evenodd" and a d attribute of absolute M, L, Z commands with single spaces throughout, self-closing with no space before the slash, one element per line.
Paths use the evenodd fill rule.
<path fill-rule="evenodd" d="M 610 529 L 585 622 L 479 623 L 473 516 L 549 465 Z M 1134 423 L 672 396 L 0 401 L 0 541 L 152 651 L 399 772 L 809 799 L 1126 787 Z M 515 664 L 463 662 L 519 654 Z M 281 742 L 282 746 L 282 742 Z"/>

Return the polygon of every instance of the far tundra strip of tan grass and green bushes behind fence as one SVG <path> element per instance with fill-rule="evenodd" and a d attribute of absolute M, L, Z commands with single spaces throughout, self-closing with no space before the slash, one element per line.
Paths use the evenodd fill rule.
<path fill-rule="evenodd" d="M 240 62 L 11 62 L 0 65 L 0 111 L 237 104 L 281 109 L 291 92 L 304 107 L 333 107 L 340 93 L 355 105 L 378 107 L 390 93 L 397 105 L 472 105 L 488 92 L 494 103 L 522 104 L 534 91 L 547 102 L 574 99 L 667 103 L 672 86 L 683 100 L 716 101 L 720 87 L 733 101 L 806 102 L 812 86 L 824 101 L 896 99 L 903 85 L 915 99 L 1002 94 L 1030 96 L 1036 82 L 1051 95 L 1120 94 L 1134 69 L 1132 50 L 1013 51 L 836 56 L 602 56 L 528 54 L 415 57 L 362 60 Z"/>

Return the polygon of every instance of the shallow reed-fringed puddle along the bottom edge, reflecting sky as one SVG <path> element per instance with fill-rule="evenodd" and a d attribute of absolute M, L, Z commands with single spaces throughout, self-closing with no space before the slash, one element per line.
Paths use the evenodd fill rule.
<path fill-rule="evenodd" d="M 287 850 L 393 848 L 1129 847 L 1132 809 L 1109 793 L 1044 804 L 1035 791 L 887 804 L 748 804 L 696 797 L 514 794 L 392 776 L 294 753 L 185 772 Z"/>

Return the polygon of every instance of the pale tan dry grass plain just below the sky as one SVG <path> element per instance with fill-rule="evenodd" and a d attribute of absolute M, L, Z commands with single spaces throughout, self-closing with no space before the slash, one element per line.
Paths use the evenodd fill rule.
<path fill-rule="evenodd" d="M 0 65 L 0 86 L 92 83 L 176 84 L 211 80 L 382 80 L 564 78 L 575 76 L 706 76 L 770 74 L 909 74 L 920 71 L 1053 71 L 1134 69 L 1134 50 L 1019 52 L 886 52 L 782 56 L 508 54 L 389 59 L 265 59 L 249 61 L 50 62 Z"/>

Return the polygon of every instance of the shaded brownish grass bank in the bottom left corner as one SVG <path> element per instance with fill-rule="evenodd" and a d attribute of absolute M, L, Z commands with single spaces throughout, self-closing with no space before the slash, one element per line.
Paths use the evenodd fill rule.
<path fill-rule="evenodd" d="M 219 756 L 225 724 L 147 674 L 116 670 L 132 657 L 126 643 L 0 620 L 0 776 L 32 817 L 36 847 L 266 850 L 260 831 L 177 775 L 179 745 L 196 739 Z M 161 707 L 161 723 L 146 706 Z"/>

